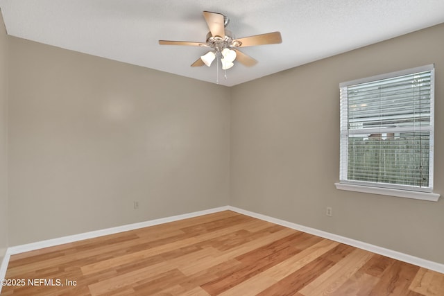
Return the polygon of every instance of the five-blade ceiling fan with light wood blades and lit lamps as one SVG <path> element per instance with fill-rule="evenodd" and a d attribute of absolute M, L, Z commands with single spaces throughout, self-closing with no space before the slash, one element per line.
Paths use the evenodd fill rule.
<path fill-rule="evenodd" d="M 247 67 L 252 67 L 257 64 L 257 60 L 239 51 L 239 47 L 282 43 L 280 32 L 234 39 L 232 33 L 225 30 L 225 27 L 230 22 L 228 17 L 225 17 L 225 15 L 222 15 L 221 13 L 210 11 L 204 11 L 203 17 L 207 22 L 208 28 L 210 28 L 206 42 L 159 40 L 159 44 L 208 47 L 210 48 L 210 51 L 198 58 L 196 62 L 191 64 L 191 67 L 200 67 L 204 64 L 210 67 L 213 60 L 219 55 L 221 58 L 222 69 L 226 70 L 234 65 L 234 60 L 237 60 Z"/>

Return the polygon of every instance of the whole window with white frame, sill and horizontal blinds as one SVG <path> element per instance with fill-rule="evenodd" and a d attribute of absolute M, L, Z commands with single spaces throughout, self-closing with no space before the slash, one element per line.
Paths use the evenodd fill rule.
<path fill-rule="evenodd" d="M 343 82 L 336 188 L 438 200 L 434 65 Z"/>

